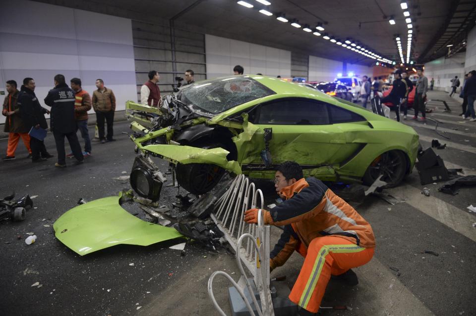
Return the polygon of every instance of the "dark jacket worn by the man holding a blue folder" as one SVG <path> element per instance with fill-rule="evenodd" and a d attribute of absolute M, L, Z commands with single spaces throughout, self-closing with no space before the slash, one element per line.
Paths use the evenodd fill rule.
<path fill-rule="evenodd" d="M 45 119 L 47 110 L 41 106 L 35 92 L 25 86 L 21 86 L 20 93 L 18 94 L 18 107 L 28 131 L 31 130 L 32 126 L 36 125 L 40 125 L 45 130 L 48 129 L 48 123 L 46 123 Z"/>

